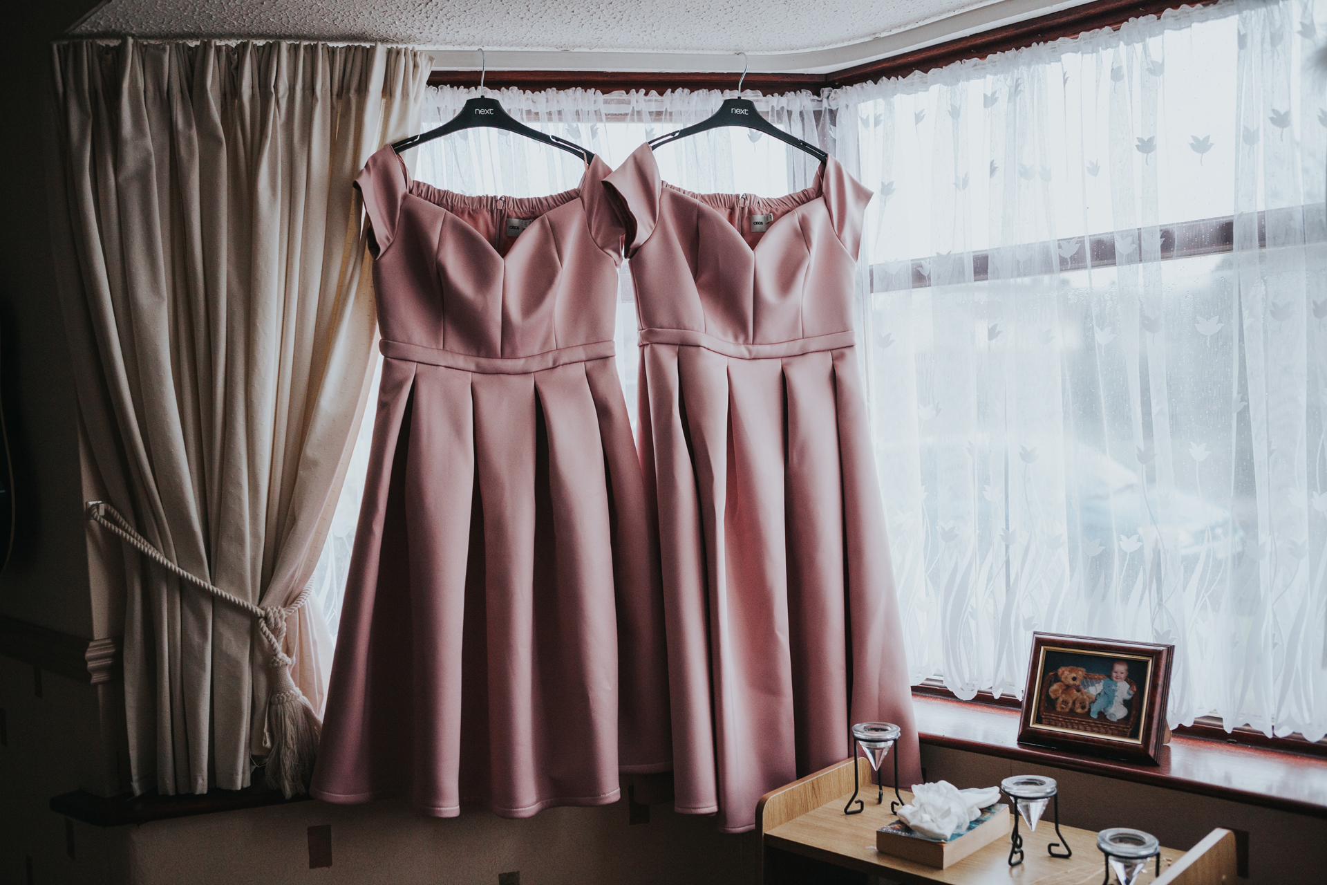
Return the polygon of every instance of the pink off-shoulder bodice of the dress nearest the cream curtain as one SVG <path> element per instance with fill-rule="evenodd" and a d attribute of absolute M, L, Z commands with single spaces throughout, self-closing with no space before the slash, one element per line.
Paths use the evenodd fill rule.
<path fill-rule="evenodd" d="M 571 191 L 464 196 L 410 180 L 390 146 L 376 153 L 356 186 L 373 227 L 382 352 L 478 372 L 612 354 L 622 227 L 608 171 L 596 157 Z"/>

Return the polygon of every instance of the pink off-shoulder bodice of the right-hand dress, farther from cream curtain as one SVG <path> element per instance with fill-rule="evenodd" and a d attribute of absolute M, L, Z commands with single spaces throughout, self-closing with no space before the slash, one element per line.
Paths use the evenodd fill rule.
<path fill-rule="evenodd" d="M 686 338 L 731 356 L 775 356 L 791 341 L 851 344 L 872 194 L 833 157 L 811 187 L 778 198 L 667 184 L 649 145 L 605 183 L 626 228 L 642 342 Z"/>

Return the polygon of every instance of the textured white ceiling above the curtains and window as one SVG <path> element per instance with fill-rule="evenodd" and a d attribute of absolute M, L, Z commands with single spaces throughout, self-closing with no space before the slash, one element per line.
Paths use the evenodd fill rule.
<path fill-rule="evenodd" d="M 109 0 L 72 34 L 373 40 L 522 52 L 792 53 L 868 41 L 993 1 Z"/>

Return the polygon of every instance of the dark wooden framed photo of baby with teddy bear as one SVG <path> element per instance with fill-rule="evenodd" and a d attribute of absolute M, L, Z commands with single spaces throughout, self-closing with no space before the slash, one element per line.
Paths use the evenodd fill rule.
<path fill-rule="evenodd" d="M 1173 645 L 1032 634 L 1019 743 L 1158 764 Z"/>

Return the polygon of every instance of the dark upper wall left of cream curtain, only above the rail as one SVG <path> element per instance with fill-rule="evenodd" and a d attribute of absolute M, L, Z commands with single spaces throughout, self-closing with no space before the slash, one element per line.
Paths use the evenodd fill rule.
<path fill-rule="evenodd" d="M 0 53 L 0 397 L 19 510 L 13 557 L 0 572 L 0 614 L 86 638 L 93 624 L 74 386 L 49 248 L 42 114 L 50 41 L 96 5 L 7 7 Z"/>

